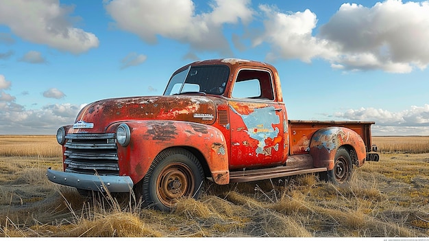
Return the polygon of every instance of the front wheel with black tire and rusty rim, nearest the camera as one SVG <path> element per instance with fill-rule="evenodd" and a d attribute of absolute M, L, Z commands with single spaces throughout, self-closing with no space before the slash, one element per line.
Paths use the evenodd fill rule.
<path fill-rule="evenodd" d="M 198 159 L 183 148 L 170 148 L 156 156 L 138 191 L 145 205 L 169 211 L 179 198 L 198 198 L 203 181 Z"/>

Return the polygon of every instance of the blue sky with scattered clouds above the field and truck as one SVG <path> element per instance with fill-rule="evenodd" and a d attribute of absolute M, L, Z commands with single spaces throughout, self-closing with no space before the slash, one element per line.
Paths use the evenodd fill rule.
<path fill-rule="evenodd" d="M 397 0 L 0 0 L 0 135 L 54 135 L 211 58 L 275 66 L 289 119 L 429 135 L 429 1 Z"/>

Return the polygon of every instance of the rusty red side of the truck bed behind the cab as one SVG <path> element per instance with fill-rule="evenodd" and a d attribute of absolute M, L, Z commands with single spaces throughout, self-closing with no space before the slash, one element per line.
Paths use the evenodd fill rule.
<path fill-rule="evenodd" d="M 354 130 L 371 151 L 371 125 L 376 122 L 289 120 L 289 154 L 307 154 L 312 135 L 321 128 L 339 126 Z"/>

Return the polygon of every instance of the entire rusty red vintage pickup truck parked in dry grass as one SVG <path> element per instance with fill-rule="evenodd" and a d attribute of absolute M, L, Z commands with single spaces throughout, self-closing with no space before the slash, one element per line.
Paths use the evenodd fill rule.
<path fill-rule="evenodd" d="M 225 58 L 173 73 L 161 96 L 99 100 L 62 126 L 63 170 L 54 183 L 79 193 L 131 192 L 169 210 L 218 185 L 320 173 L 347 183 L 354 167 L 378 161 L 374 122 L 289 120 L 278 71 Z"/>

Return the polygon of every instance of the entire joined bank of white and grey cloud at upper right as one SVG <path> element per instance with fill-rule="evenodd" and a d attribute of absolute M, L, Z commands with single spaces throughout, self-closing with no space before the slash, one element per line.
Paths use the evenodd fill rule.
<path fill-rule="evenodd" d="M 333 69 L 391 73 L 429 64 L 429 1 L 387 0 L 371 8 L 344 3 L 317 35 L 317 16 L 310 10 L 282 13 L 269 5 L 259 10 L 265 29 L 253 34 L 252 44 L 269 43 L 268 60 L 323 58 Z"/>

